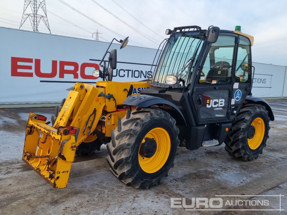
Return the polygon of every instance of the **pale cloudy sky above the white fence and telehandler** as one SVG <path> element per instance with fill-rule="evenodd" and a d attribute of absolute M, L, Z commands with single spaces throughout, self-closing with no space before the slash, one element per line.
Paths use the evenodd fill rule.
<path fill-rule="evenodd" d="M 0 0 L 0 26 L 19 28 L 23 8 L 24 0 Z M 254 36 L 253 62 L 282 66 L 287 66 L 286 8 L 287 1 L 284 0 L 46 0 L 52 34 L 94 39 L 91 33 L 98 30 L 102 33 L 99 36 L 102 41 L 129 36 L 130 45 L 158 48 L 166 38 L 167 28 L 198 25 L 207 29 L 214 25 L 220 29 L 234 30 L 236 25 L 240 25 L 243 33 Z M 47 32 L 43 23 L 39 27 L 40 32 Z M 29 20 L 21 29 L 32 30 Z"/>

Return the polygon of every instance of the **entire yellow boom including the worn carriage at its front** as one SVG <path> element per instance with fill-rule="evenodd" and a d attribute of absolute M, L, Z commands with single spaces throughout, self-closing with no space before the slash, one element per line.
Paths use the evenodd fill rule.
<path fill-rule="evenodd" d="M 97 138 L 94 130 L 110 137 L 117 119 L 126 111 L 119 108 L 133 85 L 133 94 L 150 87 L 144 81 L 119 83 L 98 81 L 97 86 L 75 83 L 52 126 L 46 117 L 30 113 L 26 127 L 23 161 L 55 188 L 67 186 L 77 146 Z M 98 126 L 100 118 L 106 123 Z"/>

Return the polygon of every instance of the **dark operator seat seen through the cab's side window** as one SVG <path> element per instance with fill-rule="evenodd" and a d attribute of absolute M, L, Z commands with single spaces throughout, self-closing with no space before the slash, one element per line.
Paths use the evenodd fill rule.
<path fill-rule="evenodd" d="M 206 81 L 213 84 L 226 84 L 230 82 L 231 74 L 228 71 L 230 64 L 226 61 L 218 61 L 208 71 Z M 215 83 L 216 81 L 216 83 Z"/>

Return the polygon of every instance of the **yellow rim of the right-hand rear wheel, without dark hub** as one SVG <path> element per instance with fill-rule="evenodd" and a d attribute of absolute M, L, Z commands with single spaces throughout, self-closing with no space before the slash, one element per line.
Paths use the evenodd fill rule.
<path fill-rule="evenodd" d="M 252 138 L 247 138 L 248 146 L 251 149 L 257 149 L 264 138 L 265 123 L 262 118 L 257 117 L 255 120 L 253 120 L 251 126 L 254 126 L 255 134 Z"/>

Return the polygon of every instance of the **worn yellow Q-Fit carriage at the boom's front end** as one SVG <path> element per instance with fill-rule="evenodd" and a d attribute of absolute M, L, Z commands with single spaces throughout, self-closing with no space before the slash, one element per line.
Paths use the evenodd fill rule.
<path fill-rule="evenodd" d="M 54 188 L 64 188 L 74 160 L 79 130 L 72 126 L 56 130 L 45 122 L 46 117 L 30 113 L 22 159 Z"/>

